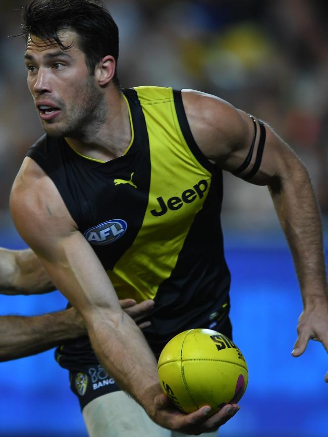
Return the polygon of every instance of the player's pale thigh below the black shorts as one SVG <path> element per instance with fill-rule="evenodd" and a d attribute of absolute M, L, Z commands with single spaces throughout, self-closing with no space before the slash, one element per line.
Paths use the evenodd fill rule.
<path fill-rule="evenodd" d="M 182 437 L 156 425 L 144 409 L 126 393 L 113 392 L 100 396 L 83 408 L 89 437 Z M 202 434 L 216 437 L 217 432 Z"/>

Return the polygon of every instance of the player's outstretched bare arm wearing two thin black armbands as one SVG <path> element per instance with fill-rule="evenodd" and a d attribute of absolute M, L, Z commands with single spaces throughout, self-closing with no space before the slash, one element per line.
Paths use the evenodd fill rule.
<path fill-rule="evenodd" d="M 258 120 L 229 103 L 190 90 L 183 92 L 183 102 L 195 141 L 209 160 L 224 170 L 237 171 L 249 182 L 268 186 L 293 255 L 304 305 L 293 354 L 303 353 L 310 338 L 320 340 L 328 351 L 321 219 L 305 166 L 266 123 L 261 128 Z M 255 127 L 253 155 L 247 165 Z M 264 136 L 261 156 L 259 143 Z"/>

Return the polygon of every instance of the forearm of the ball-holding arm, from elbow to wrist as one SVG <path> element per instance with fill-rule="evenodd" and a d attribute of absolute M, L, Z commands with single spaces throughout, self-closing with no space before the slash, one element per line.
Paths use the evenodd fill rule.
<path fill-rule="evenodd" d="M 157 363 L 142 332 L 122 313 L 116 319 L 101 308 L 88 323 L 92 347 L 119 386 L 151 415 L 153 399 L 161 393 Z"/>

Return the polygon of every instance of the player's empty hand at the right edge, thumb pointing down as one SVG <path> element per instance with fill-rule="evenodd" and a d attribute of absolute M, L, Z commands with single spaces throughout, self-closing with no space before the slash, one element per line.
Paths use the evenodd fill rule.
<path fill-rule="evenodd" d="M 301 313 L 297 325 L 298 337 L 292 351 L 293 356 L 300 356 L 305 351 L 309 340 L 320 341 L 328 352 L 328 299 L 317 297 L 313 304 Z M 325 374 L 328 383 L 328 372 Z"/>

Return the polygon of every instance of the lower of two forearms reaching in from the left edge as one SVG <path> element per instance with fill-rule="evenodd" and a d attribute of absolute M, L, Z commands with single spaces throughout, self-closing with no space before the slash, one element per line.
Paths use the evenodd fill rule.
<path fill-rule="evenodd" d="M 43 316 L 0 317 L 0 361 L 21 358 L 51 349 L 86 334 L 74 308 Z"/>

